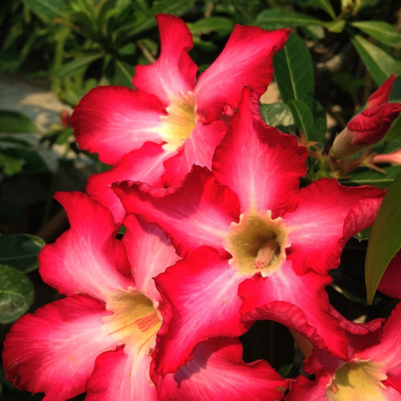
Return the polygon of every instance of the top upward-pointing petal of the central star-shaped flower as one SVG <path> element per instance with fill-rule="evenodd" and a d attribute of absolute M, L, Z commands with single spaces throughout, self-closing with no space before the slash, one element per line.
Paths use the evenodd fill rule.
<path fill-rule="evenodd" d="M 212 171 L 219 182 L 238 194 L 241 213 L 270 209 L 275 218 L 295 209 L 307 157 L 308 150 L 298 146 L 294 135 L 266 126 L 256 93 L 247 86 L 229 130 L 216 148 Z"/>

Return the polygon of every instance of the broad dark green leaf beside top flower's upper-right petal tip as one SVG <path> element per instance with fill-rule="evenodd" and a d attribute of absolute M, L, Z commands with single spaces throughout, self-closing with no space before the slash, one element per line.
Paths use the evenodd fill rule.
<path fill-rule="evenodd" d="M 290 99 L 303 100 L 314 92 L 312 57 L 304 41 L 290 34 L 284 49 L 273 58 L 274 79 L 285 103 Z"/>

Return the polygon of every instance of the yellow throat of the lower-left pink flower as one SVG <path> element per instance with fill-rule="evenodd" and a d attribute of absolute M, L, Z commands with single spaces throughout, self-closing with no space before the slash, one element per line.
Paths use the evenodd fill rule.
<path fill-rule="evenodd" d="M 161 326 L 153 302 L 139 291 L 121 290 L 109 299 L 106 308 L 114 312 L 103 319 L 107 333 L 138 354 L 148 354 Z"/>

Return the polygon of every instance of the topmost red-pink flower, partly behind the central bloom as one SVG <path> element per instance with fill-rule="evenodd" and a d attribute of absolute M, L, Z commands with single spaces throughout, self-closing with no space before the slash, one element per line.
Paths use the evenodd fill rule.
<path fill-rule="evenodd" d="M 157 188 L 178 184 L 192 164 L 211 167 L 243 84 L 260 97 L 273 76 L 273 55 L 289 30 L 265 31 L 236 25 L 216 61 L 197 79 L 188 51 L 192 36 L 180 18 L 158 14 L 161 52 L 138 65 L 134 89 L 103 86 L 85 95 L 71 116 L 81 148 L 97 152 L 115 168 L 89 179 L 87 192 L 121 223 L 124 210 L 107 188 L 115 181 L 141 180 Z"/>

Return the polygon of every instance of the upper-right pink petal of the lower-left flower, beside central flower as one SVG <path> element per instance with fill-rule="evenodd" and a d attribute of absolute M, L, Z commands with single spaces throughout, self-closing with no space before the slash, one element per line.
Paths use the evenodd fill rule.
<path fill-rule="evenodd" d="M 124 219 L 126 233 L 122 239 L 135 277 L 135 286 L 152 301 L 161 301 L 152 277 L 181 259 L 155 225 L 144 223 L 134 215 Z"/>

